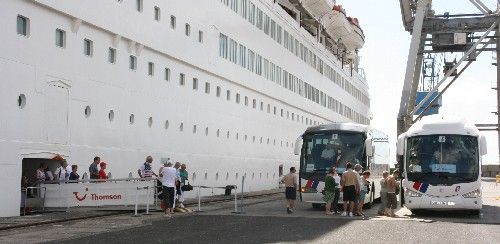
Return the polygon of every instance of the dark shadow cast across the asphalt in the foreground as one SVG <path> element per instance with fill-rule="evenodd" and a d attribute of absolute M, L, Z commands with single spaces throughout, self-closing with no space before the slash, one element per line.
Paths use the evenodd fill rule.
<path fill-rule="evenodd" d="M 191 215 L 151 226 L 58 243 L 275 243 L 311 242 L 350 220 L 243 215 Z M 305 231 L 304 229 L 307 229 Z"/>

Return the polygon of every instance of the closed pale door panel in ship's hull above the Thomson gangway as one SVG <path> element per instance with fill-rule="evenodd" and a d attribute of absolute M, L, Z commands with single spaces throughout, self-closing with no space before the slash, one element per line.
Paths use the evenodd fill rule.
<path fill-rule="evenodd" d="M 68 144 L 69 127 L 69 88 L 68 85 L 50 82 L 45 90 L 44 128 L 48 143 Z"/>

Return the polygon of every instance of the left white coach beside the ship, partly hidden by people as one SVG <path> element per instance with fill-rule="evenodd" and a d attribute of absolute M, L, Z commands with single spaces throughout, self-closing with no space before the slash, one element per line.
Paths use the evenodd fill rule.
<path fill-rule="evenodd" d="M 309 127 L 297 139 L 295 154 L 300 155 L 300 199 L 314 208 L 325 204 L 323 188 L 330 167 L 342 174 L 347 162 L 360 164 L 371 172 L 371 187 L 365 204 L 371 206 L 380 197 L 382 172 L 389 170 L 389 141 L 386 134 L 369 126 L 333 123 Z M 339 201 L 342 201 L 342 194 Z"/>

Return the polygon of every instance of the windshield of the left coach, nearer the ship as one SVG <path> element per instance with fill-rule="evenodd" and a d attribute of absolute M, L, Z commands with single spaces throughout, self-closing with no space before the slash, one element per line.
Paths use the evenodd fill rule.
<path fill-rule="evenodd" d="M 366 136 L 359 132 L 329 131 L 304 135 L 301 172 L 326 172 L 332 166 L 343 173 L 347 162 L 364 163 Z"/>

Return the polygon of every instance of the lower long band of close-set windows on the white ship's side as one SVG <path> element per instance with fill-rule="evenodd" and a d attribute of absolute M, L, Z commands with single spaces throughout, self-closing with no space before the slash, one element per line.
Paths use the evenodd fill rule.
<path fill-rule="evenodd" d="M 309 83 L 302 81 L 297 76 L 275 65 L 273 62 L 244 45 L 238 44 L 238 42 L 228 38 L 222 33 L 219 34 L 219 56 L 257 75 L 264 76 L 266 79 L 276 82 L 285 89 L 295 92 L 357 123 L 369 123 L 367 117 L 345 106 L 336 99 L 311 86 Z M 337 75 L 338 80 L 340 80 L 340 74 Z M 343 77 L 341 80 L 342 84 L 348 83 Z M 342 87 L 344 87 L 344 85 L 342 85 Z"/>

